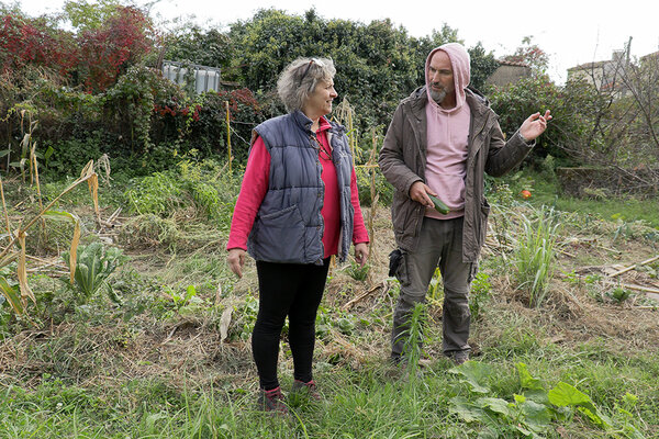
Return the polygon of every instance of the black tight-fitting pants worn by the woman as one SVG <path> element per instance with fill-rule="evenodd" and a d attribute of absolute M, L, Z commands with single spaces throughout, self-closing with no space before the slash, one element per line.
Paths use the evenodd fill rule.
<path fill-rule="evenodd" d="M 328 268 L 330 258 L 322 266 L 256 262 L 259 306 L 252 333 L 252 352 L 261 389 L 271 390 L 279 385 L 279 339 L 287 316 L 293 378 L 303 382 L 312 380 L 315 318 Z"/>

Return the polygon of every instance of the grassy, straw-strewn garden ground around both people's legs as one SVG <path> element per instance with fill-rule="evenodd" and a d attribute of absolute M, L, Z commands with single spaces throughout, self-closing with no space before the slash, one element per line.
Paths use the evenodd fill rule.
<path fill-rule="evenodd" d="M 190 170 L 187 176 L 194 183 L 202 180 Z M 213 181 L 221 187 L 221 180 Z M 534 192 L 532 203 L 545 196 L 539 192 Z M 116 191 L 119 203 L 122 193 Z M 225 193 L 234 196 L 235 188 Z M 153 194 L 158 200 L 160 195 Z M 319 313 L 314 378 L 324 399 L 298 402 L 288 417 L 256 410 L 256 372 L 248 342 L 258 303 L 255 272 L 249 266 L 237 281 L 224 261 L 225 228 L 213 225 L 206 213 L 226 200 L 194 200 L 204 209 L 180 207 L 167 215 L 132 218 L 133 225 L 124 230 L 132 245 L 125 252 L 132 259 L 108 278 L 119 301 L 98 292 L 77 306 L 59 290 L 60 282 L 42 275 L 33 279 L 38 305 L 31 307 L 32 323 L 0 307 L 1 439 L 380 439 L 484 434 L 482 423 L 466 421 L 454 409 L 456 397 L 476 399 L 463 376 L 451 373 L 453 363 L 442 357 L 440 303 L 431 301 L 425 306 L 423 351 L 420 344 L 409 349 L 410 357 L 426 360 L 424 365 L 406 370 L 384 360 L 399 285 L 386 279 L 386 256 L 393 244 L 388 235 L 390 223 L 378 218 L 368 275 L 334 269 Z M 71 206 L 76 202 L 67 200 Z M 554 203 L 557 210 L 562 202 Z M 577 203 L 574 211 L 590 211 L 588 203 Z M 515 213 L 529 212 L 527 205 L 510 206 Z M 649 213 L 650 221 L 659 216 L 657 212 Z M 629 423 L 645 437 L 657 437 L 656 315 L 606 297 L 595 301 L 589 289 L 602 289 L 602 284 L 573 271 L 574 261 L 584 257 L 592 258 L 593 264 L 612 262 L 612 252 L 599 251 L 595 245 L 621 251 L 636 246 L 639 251 L 646 240 L 637 228 L 621 228 L 616 222 L 585 214 L 557 215 L 561 222 L 561 229 L 554 230 L 558 240 L 581 230 L 597 240 L 563 248 L 576 252 L 577 259 L 557 255 L 561 271 L 572 278 L 561 281 L 548 270 L 548 294 L 539 307 L 528 307 L 514 291 L 512 248 L 489 248 L 483 255 L 478 294 L 472 297 L 479 306 L 478 318 L 470 337 L 474 361 L 487 370 L 482 380 L 488 393 L 482 396 L 513 404 L 514 395 L 523 391 L 516 369 L 523 362 L 547 387 L 559 382 L 573 385 L 617 426 Z M 502 233 L 514 238 L 510 243 L 515 243 L 523 227 L 511 218 L 499 224 Z M 175 303 L 172 294 L 183 294 L 190 286 L 196 300 Z M 346 307 L 367 291 L 358 303 Z M 232 311 L 228 324 L 224 319 L 227 309 Z M 227 339 L 221 340 L 224 325 Z M 414 333 L 421 337 L 418 329 Z M 280 359 L 286 391 L 292 380 L 286 336 Z M 636 405 L 624 405 L 627 393 L 638 398 Z M 628 417 L 621 407 L 626 407 Z M 630 437 L 623 427 L 615 436 L 587 416 L 568 412 L 544 437 Z M 499 419 L 499 437 L 521 437 L 510 436 L 515 426 Z"/>

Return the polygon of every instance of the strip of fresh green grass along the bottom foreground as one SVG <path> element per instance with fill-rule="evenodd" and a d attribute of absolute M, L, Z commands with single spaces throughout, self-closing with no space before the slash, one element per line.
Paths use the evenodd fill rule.
<path fill-rule="evenodd" d="M 639 356 L 632 361 L 611 358 L 601 362 L 584 354 L 557 353 L 556 360 L 522 356 L 514 361 L 527 360 L 532 374 L 549 384 L 559 380 L 573 383 L 604 413 L 614 414 L 613 402 L 634 393 L 641 402 L 634 413 L 638 427 L 645 424 L 649 430 L 659 424 L 659 391 L 651 384 L 657 371 L 656 367 L 646 369 L 656 359 Z M 513 360 L 492 358 L 489 364 L 489 396 L 512 401 L 520 392 Z M 3 438 L 45 439 L 474 437 L 478 425 L 465 425 L 449 413 L 449 401 L 467 392 L 456 375 L 448 373 L 450 367 L 438 362 L 423 369 L 418 381 L 401 380 L 400 370 L 392 373 L 378 362 L 356 371 L 336 368 L 317 376 L 324 383 L 324 401 L 292 407 L 288 417 L 255 410 L 250 392 L 178 390 L 149 381 L 130 382 L 108 392 L 46 378 L 33 391 L 18 386 L 1 391 L 0 434 Z M 570 437 L 602 435 L 579 416 L 563 428 L 573 431 Z M 555 431 L 547 437 L 563 436 Z"/>

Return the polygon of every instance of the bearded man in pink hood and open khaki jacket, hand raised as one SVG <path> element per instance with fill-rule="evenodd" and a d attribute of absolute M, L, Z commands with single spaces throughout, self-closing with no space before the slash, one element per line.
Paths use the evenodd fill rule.
<path fill-rule="evenodd" d="M 549 111 L 535 113 L 505 142 L 487 100 L 467 89 L 469 77 L 462 45 L 431 52 L 425 87 L 401 101 L 380 151 L 380 169 L 395 188 L 391 217 L 399 250 L 392 266 L 401 282 L 391 335 L 395 362 L 411 311 L 425 301 L 437 266 L 444 279 L 444 354 L 457 364 L 469 359 L 469 284 L 490 212 L 484 172 L 499 177 L 518 165 L 551 120 Z M 434 210 L 428 194 L 444 201 L 449 213 Z"/>

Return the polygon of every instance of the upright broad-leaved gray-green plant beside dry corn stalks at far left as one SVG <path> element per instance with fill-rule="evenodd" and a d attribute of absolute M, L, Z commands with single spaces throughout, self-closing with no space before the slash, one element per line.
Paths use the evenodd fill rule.
<path fill-rule="evenodd" d="M 70 268 L 70 252 L 65 251 L 62 256 Z M 78 302 L 86 303 L 126 259 L 120 248 L 105 247 L 102 243 L 78 246 L 71 285 L 79 293 Z"/>

